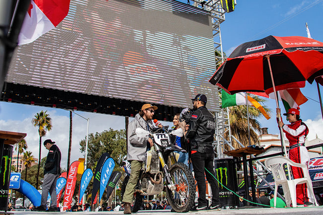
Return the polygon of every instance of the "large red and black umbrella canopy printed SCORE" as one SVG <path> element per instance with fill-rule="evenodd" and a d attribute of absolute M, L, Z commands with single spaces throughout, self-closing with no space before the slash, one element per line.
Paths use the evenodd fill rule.
<path fill-rule="evenodd" d="M 270 59 L 270 61 L 268 60 Z M 209 80 L 234 94 L 237 92 L 273 92 L 305 87 L 323 75 L 323 43 L 306 37 L 268 36 L 243 43 Z"/>

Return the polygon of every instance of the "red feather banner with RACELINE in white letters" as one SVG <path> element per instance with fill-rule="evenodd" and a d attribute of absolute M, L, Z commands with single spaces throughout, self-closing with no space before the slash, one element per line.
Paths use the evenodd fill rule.
<path fill-rule="evenodd" d="M 77 161 L 74 161 L 70 166 L 70 170 L 67 175 L 67 181 L 66 181 L 66 188 L 65 188 L 64 202 L 63 202 L 63 211 L 66 211 L 71 206 L 72 197 L 73 197 L 74 189 L 75 189 L 75 183 L 77 181 L 79 164 L 80 164 L 80 161 L 77 160 Z"/>

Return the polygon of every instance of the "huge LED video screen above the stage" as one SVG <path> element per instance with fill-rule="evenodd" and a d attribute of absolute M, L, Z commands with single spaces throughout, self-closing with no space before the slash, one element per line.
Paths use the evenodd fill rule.
<path fill-rule="evenodd" d="M 71 0 L 68 16 L 18 46 L 7 82 L 219 110 L 211 17 L 173 0 Z"/>

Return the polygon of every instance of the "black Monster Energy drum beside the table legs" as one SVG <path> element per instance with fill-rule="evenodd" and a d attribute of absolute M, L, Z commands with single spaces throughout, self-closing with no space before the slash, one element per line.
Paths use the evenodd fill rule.
<path fill-rule="evenodd" d="M 233 158 L 217 159 L 215 174 L 222 206 L 239 206 L 237 165 Z M 236 193 L 236 194 L 235 194 Z"/>

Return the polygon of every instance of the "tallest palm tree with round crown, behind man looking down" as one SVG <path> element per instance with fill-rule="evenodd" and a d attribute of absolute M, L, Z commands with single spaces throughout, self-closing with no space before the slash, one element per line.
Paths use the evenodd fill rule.
<path fill-rule="evenodd" d="M 33 126 L 38 127 L 38 134 L 39 134 L 39 156 L 38 160 L 40 161 L 41 155 L 41 143 L 42 137 L 46 135 L 47 131 L 52 130 L 52 119 L 46 114 L 47 111 L 41 111 L 35 115 L 35 118 L 31 120 Z M 36 177 L 36 189 L 38 189 L 38 179 L 39 179 L 39 169 L 40 165 L 38 164 L 37 169 L 37 177 Z"/>

